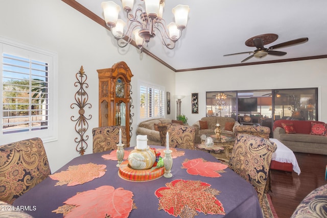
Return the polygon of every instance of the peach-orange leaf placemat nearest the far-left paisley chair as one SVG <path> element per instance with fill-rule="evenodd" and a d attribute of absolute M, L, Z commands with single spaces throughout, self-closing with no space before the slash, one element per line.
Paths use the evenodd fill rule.
<path fill-rule="evenodd" d="M 73 186 L 92 181 L 102 177 L 105 174 L 107 166 L 104 164 L 86 163 L 74 166 L 68 166 L 66 171 L 50 175 L 53 180 L 59 180 L 57 185 Z"/>

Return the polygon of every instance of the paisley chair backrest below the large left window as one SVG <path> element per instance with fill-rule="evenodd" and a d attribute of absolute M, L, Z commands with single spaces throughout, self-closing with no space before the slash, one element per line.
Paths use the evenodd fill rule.
<path fill-rule="evenodd" d="M 51 174 L 40 138 L 0 146 L 0 200 L 12 204 Z"/>

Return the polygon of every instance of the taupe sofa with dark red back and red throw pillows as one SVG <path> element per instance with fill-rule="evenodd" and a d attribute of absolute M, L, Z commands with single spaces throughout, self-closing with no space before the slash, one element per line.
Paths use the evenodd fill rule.
<path fill-rule="evenodd" d="M 273 137 L 293 152 L 327 155 L 326 125 L 319 121 L 279 119 Z"/>

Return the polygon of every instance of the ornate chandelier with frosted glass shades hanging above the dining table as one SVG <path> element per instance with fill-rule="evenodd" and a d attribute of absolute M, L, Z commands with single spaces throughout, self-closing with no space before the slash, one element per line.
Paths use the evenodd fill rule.
<path fill-rule="evenodd" d="M 139 50 L 142 52 L 145 43 L 159 34 L 162 44 L 168 49 L 174 49 L 176 41 L 181 37 L 182 31 L 188 22 L 189 6 L 177 5 L 173 8 L 175 22 L 169 23 L 166 29 L 166 21 L 162 19 L 162 12 L 165 7 L 165 0 L 141 0 L 144 1 L 144 8 L 137 5 L 135 13 L 132 14 L 134 0 L 122 0 L 123 9 L 127 16 L 127 28 L 125 21 L 118 19 L 121 7 L 112 1 L 102 2 L 104 17 L 107 26 L 110 28 L 113 37 L 120 47 L 125 47 L 134 39 Z M 133 37 L 132 37 L 133 36 Z"/>

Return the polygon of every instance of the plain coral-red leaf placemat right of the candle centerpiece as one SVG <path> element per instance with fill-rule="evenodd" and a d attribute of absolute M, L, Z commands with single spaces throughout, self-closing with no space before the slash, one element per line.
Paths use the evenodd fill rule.
<path fill-rule="evenodd" d="M 200 175 L 205 177 L 221 177 L 220 173 L 224 173 L 224 169 L 228 166 L 223 163 L 209 162 L 203 158 L 185 159 L 182 163 L 183 169 L 191 175 Z"/>

